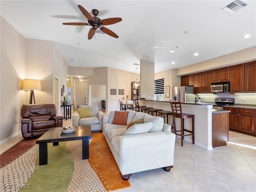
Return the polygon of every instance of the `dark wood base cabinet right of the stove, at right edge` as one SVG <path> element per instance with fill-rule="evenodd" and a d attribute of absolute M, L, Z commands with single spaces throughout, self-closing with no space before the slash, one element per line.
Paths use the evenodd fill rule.
<path fill-rule="evenodd" d="M 256 136 L 256 110 L 224 107 L 230 110 L 229 129 Z"/>

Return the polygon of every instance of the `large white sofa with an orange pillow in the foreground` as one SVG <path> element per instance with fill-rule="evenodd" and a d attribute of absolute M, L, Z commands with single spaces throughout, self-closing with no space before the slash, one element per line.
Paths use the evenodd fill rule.
<path fill-rule="evenodd" d="M 128 180 L 134 172 L 155 168 L 170 171 L 174 162 L 176 137 L 171 132 L 171 126 L 164 123 L 163 118 L 160 117 L 132 110 L 127 110 L 127 112 L 129 113 L 126 125 L 112 124 L 115 114 L 112 111 L 109 116 L 103 117 L 102 126 L 102 133 L 120 169 L 122 179 Z M 128 133 L 128 130 L 132 128 L 126 131 L 128 123 L 140 119 L 143 119 L 144 123 L 132 127 L 139 127 L 145 133 Z M 136 128 L 130 132 L 136 133 L 134 130 Z"/>

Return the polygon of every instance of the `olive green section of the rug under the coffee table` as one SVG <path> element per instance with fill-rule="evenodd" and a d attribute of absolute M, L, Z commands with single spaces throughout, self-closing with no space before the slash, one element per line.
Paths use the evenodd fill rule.
<path fill-rule="evenodd" d="M 48 143 L 48 164 L 40 165 L 37 159 L 36 168 L 20 192 L 64 192 L 67 190 L 74 173 L 72 153 L 66 148 L 66 142 L 52 146 Z"/>

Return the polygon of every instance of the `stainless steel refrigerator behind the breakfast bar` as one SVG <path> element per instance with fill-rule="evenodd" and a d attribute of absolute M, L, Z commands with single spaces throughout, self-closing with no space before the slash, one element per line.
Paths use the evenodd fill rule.
<path fill-rule="evenodd" d="M 195 102 L 196 94 L 194 88 L 190 86 L 173 87 L 172 100 L 180 102 Z"/>

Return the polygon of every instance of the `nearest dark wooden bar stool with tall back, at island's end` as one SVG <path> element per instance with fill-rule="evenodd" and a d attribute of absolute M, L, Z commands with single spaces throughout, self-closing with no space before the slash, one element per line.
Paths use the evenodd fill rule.
<path fill-rule="evenodd" d="M 195 143 L 195 132 L 194 132 L 194 115 L 193 114 L 187 114 L 187 113 L 182 113 L 182 108 L 181 108 L 181 103 L 180 102 L 170 102 L 171 104 L 171 108 L 172 108 L 172 116 L 173 116 L 173 120 L 172 120 L 172 132 L 175 133 L 176 135 L 180 135 L 181 136 L 181 146 L 183 146 L 183 139 L 184 136 L 188 136 L 188 135 L 192 135 L 192 141 L 193 144 Z M 175 118 L 180 118 L 180 122 L 181 122 L 181 130 L 176 130 L 176 123 L 175 123 Z M 184 128 L 184 119 L 186 118 L 192 118 L 192 131 L 185 129 Z M 178 134 L 177 132 L 180 131 L 180 134 Z M 190 133 L 190 134 L 184 134 L 184 131 Z"/>

